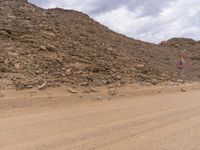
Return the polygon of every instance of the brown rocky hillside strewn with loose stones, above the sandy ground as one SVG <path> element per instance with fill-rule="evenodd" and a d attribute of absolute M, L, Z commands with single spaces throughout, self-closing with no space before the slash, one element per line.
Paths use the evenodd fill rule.
<path fill-rule="evenodd" d="M 0 0 L 0 87 L 176 81 L 179 48 L 190 49 L 187 79 L 198 80 L 199 42 L 186 40 L 177 47 L 173 41 L 183 40 L 146 43 L 117 34 L 81 12 Z"/>

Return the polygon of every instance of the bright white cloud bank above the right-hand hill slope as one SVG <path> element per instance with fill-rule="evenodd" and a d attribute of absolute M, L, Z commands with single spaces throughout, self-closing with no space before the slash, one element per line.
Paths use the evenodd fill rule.
<path fill-rule="evenodd" d="M 175 1 L 156 16 L 138 17 L 141 11 L 132 12 L 123 6 L 95 19 L 117 32 L 149 42 L 158 43 L 172 37 L 200 39 L 200 3 L 197 0 Z"/>

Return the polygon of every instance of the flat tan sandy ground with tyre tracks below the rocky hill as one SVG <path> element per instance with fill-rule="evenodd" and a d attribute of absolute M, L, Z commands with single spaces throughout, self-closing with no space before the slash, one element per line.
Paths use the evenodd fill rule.
<path fill-rule="evenodd" d="M 199 89 L 1 91 L 0 150 L 199 150 Z"/>

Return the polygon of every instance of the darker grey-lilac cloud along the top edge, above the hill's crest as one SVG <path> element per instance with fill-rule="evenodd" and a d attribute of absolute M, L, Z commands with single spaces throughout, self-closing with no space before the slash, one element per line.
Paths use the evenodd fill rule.
<path fill-rule="evenodd" d="M 126 6 L 129 11 L 134 11 L 138 7 L 144 8 L 145 14 L 154 14 L 163 6 L 172 0 L 30 0 L 33 3 L 40 4 L 44 8 L 63 7 L 66 9 L 75 9 L 89 13 L 91 15 L 98 15 L 108 12 L 119 7 Z M 153 9 L 152 9 L 153 8 Z"/>

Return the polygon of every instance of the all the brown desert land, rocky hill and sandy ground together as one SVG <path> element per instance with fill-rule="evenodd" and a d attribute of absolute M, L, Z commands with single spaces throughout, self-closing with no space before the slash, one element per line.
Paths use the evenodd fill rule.
<path fill-rule="evenodd" d="M 199 150 L 199 50 L 0 0 L 0 150 Z"/>

